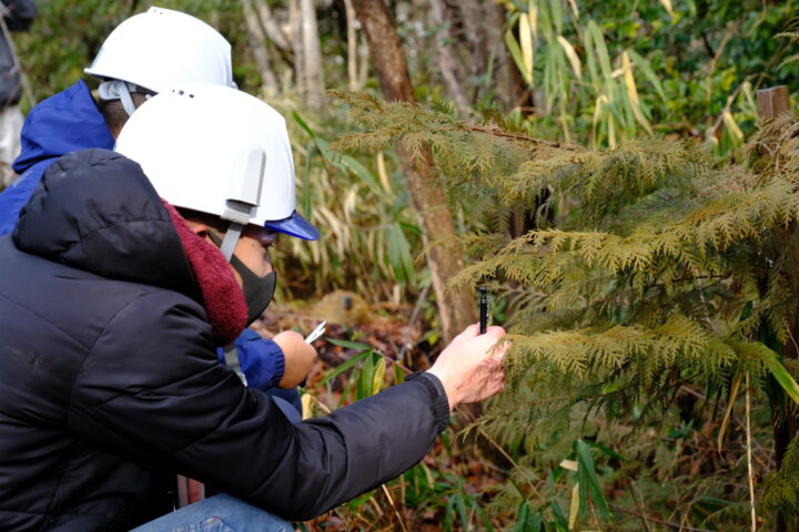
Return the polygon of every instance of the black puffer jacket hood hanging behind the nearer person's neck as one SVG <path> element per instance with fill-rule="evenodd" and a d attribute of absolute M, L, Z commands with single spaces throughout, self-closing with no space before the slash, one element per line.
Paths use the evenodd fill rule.
<path fill-rule="evenodd" d="M 84 150 L 52 163 L 13 239 L 23 252 L 202 303 L 170 214 L 141 166 L 119 153 Z"/>

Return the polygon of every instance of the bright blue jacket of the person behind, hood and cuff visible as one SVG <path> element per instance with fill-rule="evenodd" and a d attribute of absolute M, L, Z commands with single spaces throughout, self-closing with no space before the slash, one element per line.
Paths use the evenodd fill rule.
<path fill-rule="evenodd" d="M 20 177 L 0 193 L 0 236 L 13 231 L 20 211 L 52 162 L 70 152 L 111 150 L 113 145 L 114 137 L 83 81 L 33 108 L 22 126 L 22 151 L 13 163 Z M 235 344 L 249 386 L 262 390 L 276 387 L 285 365 L 277 344 L 249 329 Z M 224 362 L 224 357 L 220 360 Z"/>

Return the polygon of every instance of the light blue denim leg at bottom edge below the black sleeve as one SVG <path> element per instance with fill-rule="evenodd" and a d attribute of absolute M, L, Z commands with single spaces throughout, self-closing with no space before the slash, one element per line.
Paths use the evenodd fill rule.
<path fill-rule="evenodd" d="M 294 526 L 230 495 L 215 495 L 131 532 L 294 532 Z"/>

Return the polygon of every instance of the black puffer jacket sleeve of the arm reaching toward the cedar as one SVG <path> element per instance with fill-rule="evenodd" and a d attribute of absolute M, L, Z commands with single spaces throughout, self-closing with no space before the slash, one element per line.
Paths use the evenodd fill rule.
<path fill-rule="evenodd" d="M 292 424 L 218 362 L 202 310 L 175 297 L 142 296 L 111 319 L 74 382 L 69 430 L 306 520 L 414 466 L 448 417 L 428 376 Z"/>

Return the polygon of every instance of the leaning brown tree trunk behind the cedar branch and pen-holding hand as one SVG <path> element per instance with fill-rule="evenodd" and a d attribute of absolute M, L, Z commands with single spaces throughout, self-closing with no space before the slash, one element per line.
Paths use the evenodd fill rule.
<path fill-rule="evenodd" d="M 353 0 L 353 6 L 366 35 L 383 96 L 387 101 L 414 102 L 405 54 L 385 3 L 383 0 Z M 427 151 L 422 163 L 414 164 L 402 142 L 397 144 L 396 151 L 414 206 L 422 216 L 429 238 L 435 241 L 454 234 L 452 213 L 444 192 L 434 180 L 432 153 Z M 459 255 L 434 247 L 427 254 L 427 265 L 438 304 L 443 336 L 448 341 L 464 327 L 476 321 L 475 297 L 468 291 L 445 293 L 447 280 L 464 267 Z"/>

